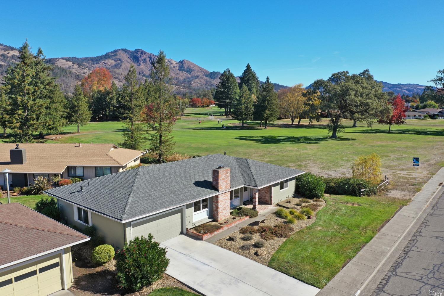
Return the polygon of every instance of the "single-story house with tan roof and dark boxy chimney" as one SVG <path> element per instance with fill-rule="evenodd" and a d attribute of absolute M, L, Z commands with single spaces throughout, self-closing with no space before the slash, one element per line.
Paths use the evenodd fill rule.
<path fill-rule="evenodd" d="M 37 176 L 87 180 L 117 173 L 139 164 L 142 155 L 114 144 L 0 144 L 0 185 L 6 185 L 5 169 L 11 170 L 9 184 L 23 187 Z"/>

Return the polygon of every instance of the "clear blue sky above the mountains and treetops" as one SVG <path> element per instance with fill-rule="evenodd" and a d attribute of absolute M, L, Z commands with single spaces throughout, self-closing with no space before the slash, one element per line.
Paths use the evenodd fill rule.
<path fill-rule="evenodd" d="M 444 1 L 273 2 L 3 0 L 0 43 L 28 38 L 47 57 L 162 49 L 209 71 L 240 75 L 250 63 L 285 85 L 366 68 L 377 80 L 430 84 L 444 68 Z"/>

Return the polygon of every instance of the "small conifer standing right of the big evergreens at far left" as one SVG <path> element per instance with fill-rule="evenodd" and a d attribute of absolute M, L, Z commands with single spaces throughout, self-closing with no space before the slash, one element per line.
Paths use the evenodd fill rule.
<path fill-rule="evenodd" d="M 80 132 L 80 126 L 86 125 L 91 120 L 91 111 L 89 110 L 88 99 L 83 96 L 80 85 L 76 85 L 74 96 L 69 101 L 69 122 L 77 124 L 77 132 Z"/>

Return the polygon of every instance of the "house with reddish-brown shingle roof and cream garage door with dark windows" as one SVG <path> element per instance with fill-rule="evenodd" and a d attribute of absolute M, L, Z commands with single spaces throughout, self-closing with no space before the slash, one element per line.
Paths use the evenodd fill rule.
<path fill-rule="evenodd" d="M 0 229 L 0 295 L 71 287 L 71 246 L 89 237 L 19 203 L 0 205 Z"/>

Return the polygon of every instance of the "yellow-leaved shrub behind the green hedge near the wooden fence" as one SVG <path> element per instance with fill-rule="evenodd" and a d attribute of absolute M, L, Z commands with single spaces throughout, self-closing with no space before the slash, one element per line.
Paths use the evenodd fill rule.
<path fill-rule="evenodd" d="M 378 154 L 360 156 L 352 166 L 352 176 L 373 184 L 381 182 L 381 158 Z"/>

